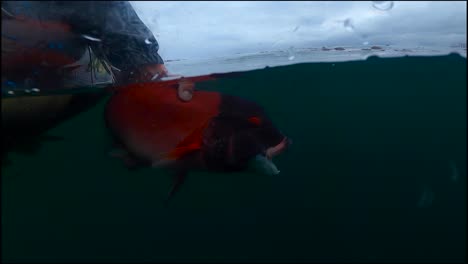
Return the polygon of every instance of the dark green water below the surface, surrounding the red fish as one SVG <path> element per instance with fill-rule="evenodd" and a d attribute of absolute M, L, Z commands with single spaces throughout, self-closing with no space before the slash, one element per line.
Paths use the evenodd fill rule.
<path fill-rule="evenodd" d="M 316 63 L 201 89 L 252 98 L 281 173 L 169 175 L 110 158 L 104 103 L 2 166 L 2 261 L 466 261 L 466 59 Z"/>

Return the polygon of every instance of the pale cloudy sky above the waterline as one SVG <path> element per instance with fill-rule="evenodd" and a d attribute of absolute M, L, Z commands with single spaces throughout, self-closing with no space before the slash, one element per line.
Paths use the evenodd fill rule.
<path fill-rule="evenodd" d="M 466 1 L 132 1 L 165 59 L 288 47 L 466 43 Z"/>

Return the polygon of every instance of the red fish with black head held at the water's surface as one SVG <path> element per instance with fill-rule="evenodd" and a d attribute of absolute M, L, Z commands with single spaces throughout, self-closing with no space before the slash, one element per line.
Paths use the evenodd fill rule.
<path fill-rule="evenodd" d="M 207 79 L 213 77 L 133 84 L 119 88 L 106 107 L 107 126 L 127 164 L 177 171 L 169 198 L 189 170 L 242 171 L 260 160 L 279 173 L 271 158 L 290 143 L 252 101 L 210 91 L 178 99 L 178 85 Z"/>

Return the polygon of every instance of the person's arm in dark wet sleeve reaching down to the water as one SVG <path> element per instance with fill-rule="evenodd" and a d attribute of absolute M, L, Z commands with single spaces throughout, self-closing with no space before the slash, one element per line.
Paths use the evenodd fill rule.
<path fill-rule="evenodd" d="M 71 1 L 73 2 L 73 1 Z M 127 1 L 75 2 L 71 20 L 96 43 L 106 59 L 120 71 L 123 82 L 151 80 L 167 75 L 159 44 Z"/>

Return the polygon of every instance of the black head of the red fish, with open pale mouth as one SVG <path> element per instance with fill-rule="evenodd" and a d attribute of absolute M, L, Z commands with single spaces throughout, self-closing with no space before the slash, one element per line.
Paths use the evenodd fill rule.
<path fill-rule="evenodd" d="M 231 98 L 230 111 L 224 110 L 213 119 L 207 133 L 205 157 L 208 157 L 208 163 L 232 171 L 244 170 L 252 163 L 260 162 L 260 167 L 272 171 L 267 174 L 279 173 L 273 169 L 272 159 L 286 150 L 292 141 L 254 102 Z"/>

